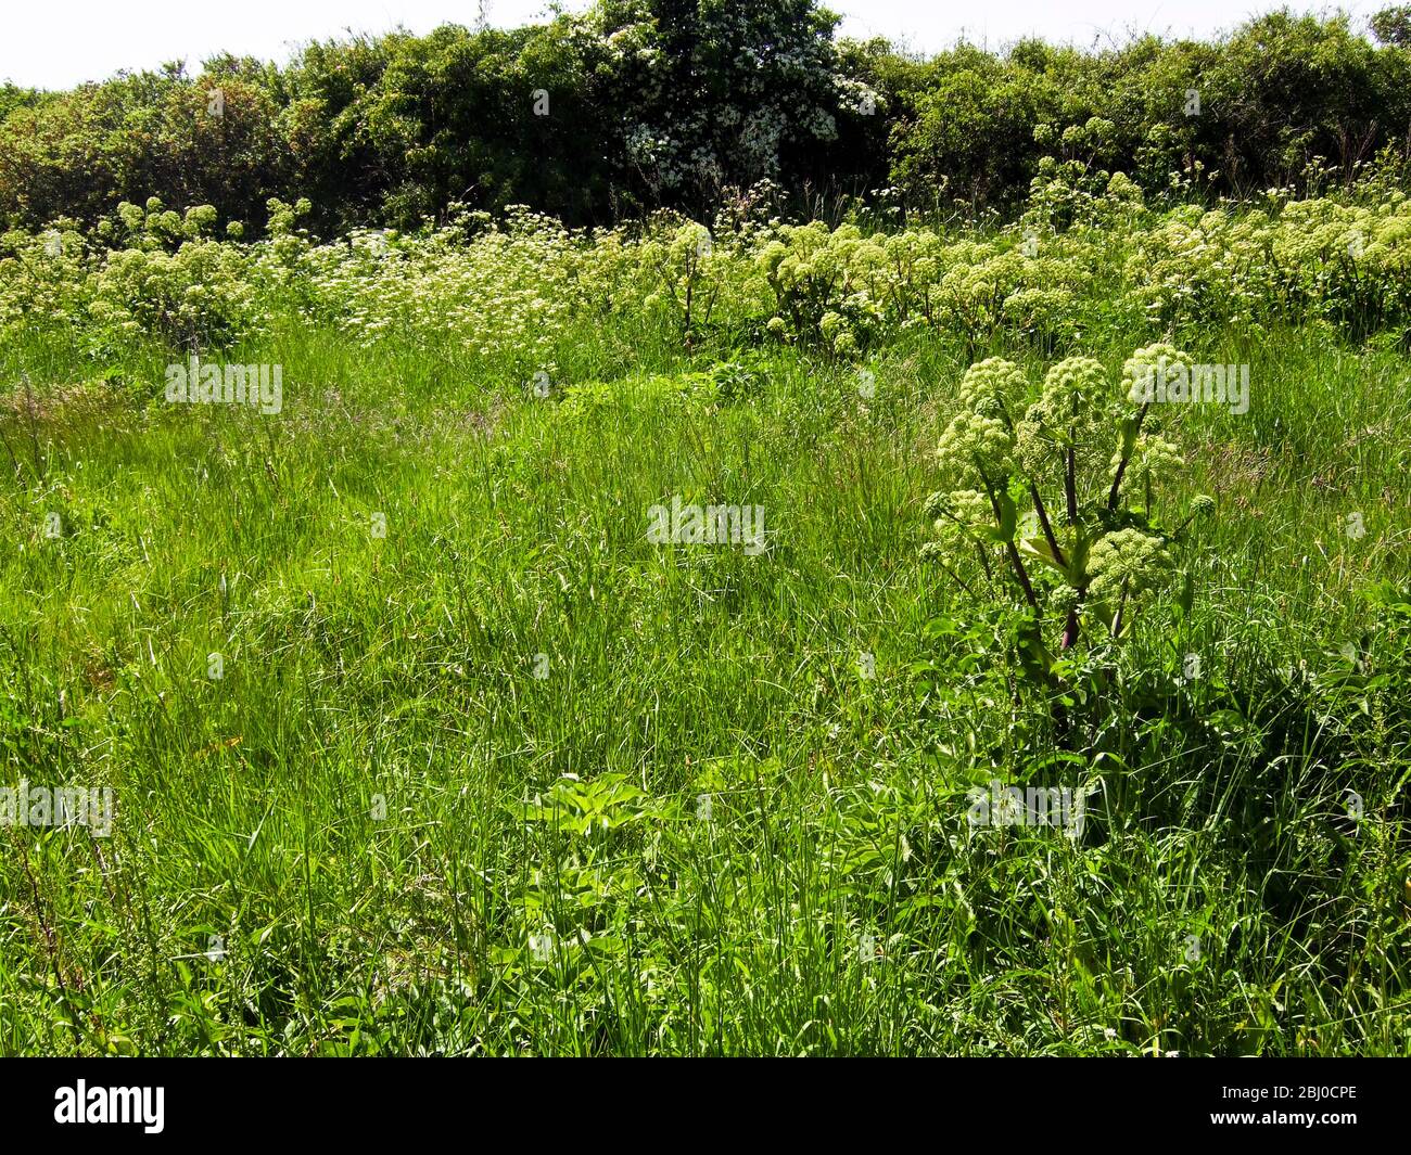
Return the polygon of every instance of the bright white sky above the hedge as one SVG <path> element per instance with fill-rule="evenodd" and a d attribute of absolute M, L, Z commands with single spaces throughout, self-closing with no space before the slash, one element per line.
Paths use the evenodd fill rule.
<path fill-rule="evenodd" d="M 481 0 L 498 27 L 532 21 L 545 0 Z M 1367 17 L 1391 0 L 1340 4 L 1288 0 L 1295 11 L 1342 7 Z M 885 35 L 920 51 L 965 38 L 998 48 L 1023 35 L 1089 45 L 1125 39 L 1130 31 L 1209 35 L 1247 16 L 1281 7 L 1278 0 L 831 0 L 844 35 Z M 581 11 L 587 0 L 563 7 Z M 0 16 L 0 80 L 34 87 L 71 87 L 120 68 L 155 68 L 185 59 L 195 72 L 220 51 L 286 61 L 309 39 L 347 30 L 385 32 L 402 25 L 428 32 L 439 24 L 473 25 L 477 0 L 11 0 Z"/>

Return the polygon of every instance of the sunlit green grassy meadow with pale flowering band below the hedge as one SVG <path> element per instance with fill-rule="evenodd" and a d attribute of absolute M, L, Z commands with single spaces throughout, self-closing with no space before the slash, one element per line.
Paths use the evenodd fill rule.
<path fill-rule="evenodd" d="M 1276 296 L 1182 279 L 1184 240 L 1143 279 L 1243 210 L 1103 203 L 1038 255 L 32 238 L 4 781 L 114 818 L 0 828 L 0 1053 L 1411 1053 L 1407 214 L 1381 281 Z M 893 282 L 924 307 L 871 243 L 933 262 Z M 1167 406 L 1161 501 L 1215 503 L 1194 597 L 1036 683 L 1002 564 L 923 549 L 937 441 L 976 361 L 1116 381 L 1157 340 L 1250 369 L 1246 413 Z M 279 365 L 279 412 L 165 401 L 193 348 Z M 673 496 L 762 508 L 763 547 L 653 543 Z M 992 781 L 1085 821 L 975 825 Z"/>

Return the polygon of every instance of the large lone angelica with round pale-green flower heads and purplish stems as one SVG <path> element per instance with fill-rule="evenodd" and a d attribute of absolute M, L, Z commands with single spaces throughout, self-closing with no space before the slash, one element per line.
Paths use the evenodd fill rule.
<path fill-rule="evenodd" d="M 1012 361 L 971 365 L 937 448 L 951 488 L 926 502 L 940 534 L 927 551 L 971 550 L 986 577 L 1006 573 L 1040 630 L 1061 623 L 1060 650 L 1077 646 L 1085 628 L 1126 636 L 1137 606 L 1175 577 L 1192 519 L 1213 509 L 1202 496 L 1178 525 L 1161 519 L 1161 484 L 1185 463 L 1151 402 L 1130 399 L 1150 374 L 1189 365 L 1168 344 L 1147 346 L 1115 384 L 1101 362 L 1070 357 L 1048 369 L 1031 401 Z M 1041 632 L 1037 647 L 1031 656 L 1047 671 L 1053 654 Z"/>

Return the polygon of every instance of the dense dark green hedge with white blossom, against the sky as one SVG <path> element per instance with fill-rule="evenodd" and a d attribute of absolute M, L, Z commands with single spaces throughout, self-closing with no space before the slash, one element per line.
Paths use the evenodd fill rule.
<path fill-rule="evenodd" d="M 601 0 L 512 31 L 230 55 L 68 93 L 0 89 L 0 221 L 96 221 L 120 200 L 264 224 L 310 200 L 320 233 L 528 204 L 608 224 L 707 220 L 770 182 L 794 212 L 1017 206 L 1044 162 L 1206 202 L 1350 183 L 1411 140 L 1411 51 L 1346 17 L 1274 13 L 1212 42 L 1079 51 L 959 44 L 931 59 L 835 39 L 813 0 Z M 219 107 L 219 114 L 216 109 Z M 1400 169 L 1397 169 L 1400 171 Z M 886 186 L 886 188 L 883 188 Z"/>

